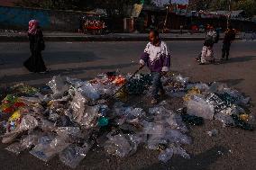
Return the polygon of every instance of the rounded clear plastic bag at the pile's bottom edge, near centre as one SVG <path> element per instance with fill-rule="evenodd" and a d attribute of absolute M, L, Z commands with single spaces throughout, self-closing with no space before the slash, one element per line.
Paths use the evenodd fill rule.
<path fill-rule="evenodd" d="M 125 157 L 132 149 L 130 143 L 122 134 L 109 136 L 105 142 L 105 151 L 114 156 Z"/>

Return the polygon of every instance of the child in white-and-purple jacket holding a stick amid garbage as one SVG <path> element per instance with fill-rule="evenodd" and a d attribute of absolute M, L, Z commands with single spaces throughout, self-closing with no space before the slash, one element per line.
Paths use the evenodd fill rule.
<path fill-rule="evenodd" d="M 170 53 L 167 44 L 160 40 L 158 31 L 150 32 L 150 42 L 147 44 L 140 59 L 140 65 L 147 65 L 151 70 L 152 94 L 151 104 L 158 103 L 159 94 L 164 94 L 164 89 L 160 81 L 169 71 Z"/>

